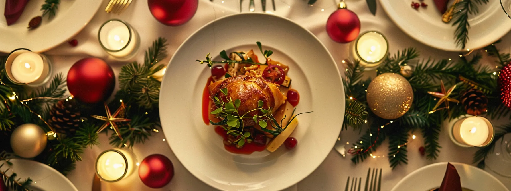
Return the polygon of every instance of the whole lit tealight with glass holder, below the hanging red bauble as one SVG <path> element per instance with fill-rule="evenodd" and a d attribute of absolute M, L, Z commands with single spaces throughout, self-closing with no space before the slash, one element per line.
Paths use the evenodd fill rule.
<path fill-rule="evenodd" d="M 353 58 L 360 60 L 360 65 L 376 68 L 387 56 L 387 39 L 377 31 L 364 32 L 352 43 L 352 53 Z"/>

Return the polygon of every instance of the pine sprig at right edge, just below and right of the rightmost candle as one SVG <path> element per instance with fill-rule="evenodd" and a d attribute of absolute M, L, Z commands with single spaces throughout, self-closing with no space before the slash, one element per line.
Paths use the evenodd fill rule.
<path fill-rule="evenodd" d="M 511 132 L 511 123 L 507 125 L 503 125 L 495 128 L 495 137 L 494 141 L 490 143 L 490 145 L 480 148 L 476 153 L 474 153 L 474 158 L 472 159 L 473 163 L 478 163 L 477 167 L 484 169 L 485 163 L 484 160 L 488 157 L 489 154 L 493 153 L 495 149 L 495 144 L 502 144 L 502 140 L 498 141 L 500 138 L 504 137 L 504 134 Z"/>

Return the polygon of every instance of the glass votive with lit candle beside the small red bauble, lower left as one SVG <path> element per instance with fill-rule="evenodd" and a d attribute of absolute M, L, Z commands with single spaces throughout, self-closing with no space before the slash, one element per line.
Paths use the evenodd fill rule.
<path fill-rule="evenodd" d="M 117 182 L 136 169 L 136 158 L 128 149 L 108 149 L 96 158 L 96 175 L 106 182 Z"/>

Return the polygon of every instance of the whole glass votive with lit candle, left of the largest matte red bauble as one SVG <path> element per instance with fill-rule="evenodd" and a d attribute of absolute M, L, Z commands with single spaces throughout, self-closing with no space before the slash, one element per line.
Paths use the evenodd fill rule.
<path fill-rule="evenodd" d="M 52 75 L 50 60 L 26 48 L 11 51 L 2 64 L 5 64 L 7 78 L 17 85 L 38 87 L 47 83 Z"/>

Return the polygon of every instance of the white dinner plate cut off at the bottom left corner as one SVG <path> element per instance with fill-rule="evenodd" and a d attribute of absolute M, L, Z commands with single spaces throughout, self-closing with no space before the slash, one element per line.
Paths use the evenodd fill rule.
<path fill-rule="evenodd" d="M 7 165 L 3 160 L 0 161 L 0 164 L 5 163 L 4 167 L 0 170 L 5 171 L 9 168 L 10 170 L 7 171 L 7 174 L 10 175 L 12 172 L 15 172 L 17 174 L 16 178 L 21 178 L 20 181 L 25 181 L 27 178 L 32 179 L 32 184 L 30 185 L 32 190 L 78 191 L 69 179 L 48 165 L 21 158 L 13 158 L 9 161 L 12 162 L 12 166 Z"/>

